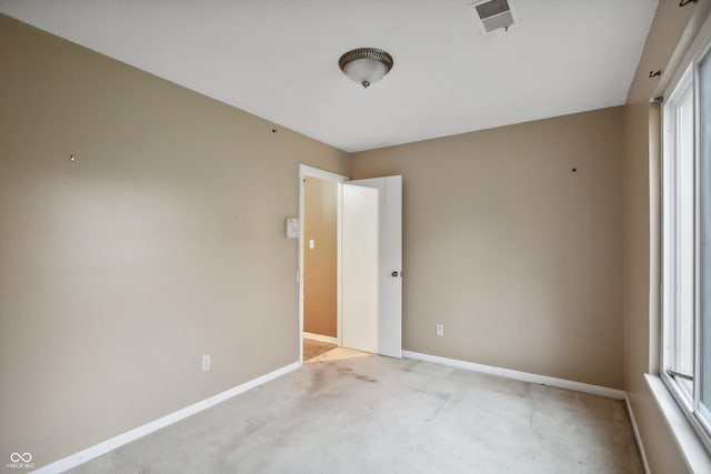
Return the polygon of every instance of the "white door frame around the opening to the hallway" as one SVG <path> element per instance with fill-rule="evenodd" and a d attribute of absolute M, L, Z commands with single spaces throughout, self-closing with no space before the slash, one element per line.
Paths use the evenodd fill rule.
<path fill-rule="evenodd" d="M 301 226 L 301 232 L 299 232 L 299 268 L 297 270 L 297 281 L 299 282 L 299 364 L 303 365 L 303 208 L 304 208 L 304 199 L 303 199 L 303 179 L 306 177 L 318 178 L 320 180 L 333 181 L 337 183 L 344 183 L 349 180 L 348 177 L 333 173 L 331 171 L 321 170 L 319 168 L 310 167 L 308 164 L 299 164 L 299 223 Z M 338 206 L 338 218 L 337 218 L 337 228 L 338 228 L 338 246 L 337 246 L 337 300 L 336 300 L 336 339 L 338 339 L 338 345 L 342 345 L 342 334 L 341 334 L 341 231 L 342 231 L 342 219 L 341 212 L 343 206 L 343 190 L 342 186 L 338 186 L 338 198 L 337 198 L 337 206 Z"/>

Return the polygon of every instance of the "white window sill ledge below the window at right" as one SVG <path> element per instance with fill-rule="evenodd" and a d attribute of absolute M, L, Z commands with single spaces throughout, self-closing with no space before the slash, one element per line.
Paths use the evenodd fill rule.
<path fill-rule="evenodd" d="M 644 380 L 662 412 L 662 417 L 671 430 L 677 446 L 687 462 L 687 467 L 692 473 L 710 473 L 711 455 L 699 437 L 684 412 L 667 387 L 664 381 L 657 375 L 644 374 Z"/>

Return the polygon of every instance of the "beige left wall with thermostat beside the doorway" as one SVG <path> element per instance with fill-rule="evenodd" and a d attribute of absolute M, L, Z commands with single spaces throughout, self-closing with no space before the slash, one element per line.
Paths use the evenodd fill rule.
<path fill-rule="evenodd" d="M 298 361 L 284 218 L 298 164 L 346 153 L 2 16 L 0 71 L 3 460 Z"/>

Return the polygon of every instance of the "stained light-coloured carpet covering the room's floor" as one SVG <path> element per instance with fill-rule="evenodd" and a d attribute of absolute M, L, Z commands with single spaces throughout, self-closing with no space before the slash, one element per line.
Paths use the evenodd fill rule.
<path fill-rule="evenodd" d="M 620 401 L 381 356 L 307 364 L 73 471 L 642 473 Z"/>

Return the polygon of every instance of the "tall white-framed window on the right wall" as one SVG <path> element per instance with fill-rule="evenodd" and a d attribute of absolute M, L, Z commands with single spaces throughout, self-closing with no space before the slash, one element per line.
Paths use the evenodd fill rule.
<path fill-rule="evenodd" d="M 711 448 L 711 54 L 663 112 L 662 379 Z"/>

